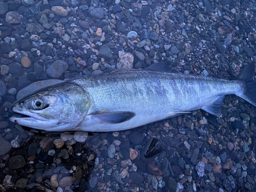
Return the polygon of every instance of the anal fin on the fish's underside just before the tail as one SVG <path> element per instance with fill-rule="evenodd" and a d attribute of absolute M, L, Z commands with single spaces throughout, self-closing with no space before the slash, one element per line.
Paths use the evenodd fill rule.
<path fill-rule="evenodd" d="M 222 117 L 221 106 L 222 106 L 224 97 L 225 95 L 218 96 L 211 104 L 206 105 L 201 109 L 212 115 Z"/>

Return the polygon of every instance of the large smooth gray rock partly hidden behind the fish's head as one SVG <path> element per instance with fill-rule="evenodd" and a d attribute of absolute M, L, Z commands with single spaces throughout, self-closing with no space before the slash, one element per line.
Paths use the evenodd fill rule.
<path fill-rule="evenodd" d="M 63 80 L 58 79 L 48 79 L 48 80 L 42 80 L 42 81 L 36 81 L 31 83 L 26 88 L 23 88 L 17 93 L 17 100 L 22 99 L 23 97 L 29 95 L 30 93 L 36 92 L 42 88 L 52 86 L 53 84 L 64 82 Z"/>

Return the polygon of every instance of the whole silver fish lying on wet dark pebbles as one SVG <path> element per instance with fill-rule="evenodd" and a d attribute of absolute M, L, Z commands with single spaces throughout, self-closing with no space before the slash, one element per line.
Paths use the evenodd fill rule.
<path fill-rule="evenodd" d="M 163 61 L 41 89 L 13 104 L 10 121 L 49 132 L 113 132 L 198 109 L 222 117 L 222 102 L 229 94 L 256 106 L 255 62 L 233 80 L 170 73 L 169 65 Z"/>

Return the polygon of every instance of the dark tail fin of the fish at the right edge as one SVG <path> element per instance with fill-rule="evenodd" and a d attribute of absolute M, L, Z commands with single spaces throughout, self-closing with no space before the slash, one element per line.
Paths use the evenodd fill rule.
<path fill-rule="evenodd" d="M 242 80 L 245 83 L 245 91 L 238 95 L 249 103 L 256 106 L 256 88 L 255 88 L 255 61 L 251 62 L 237 77 L 236 80 Z"/>

